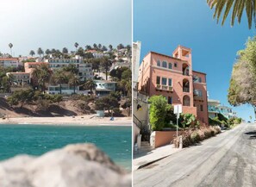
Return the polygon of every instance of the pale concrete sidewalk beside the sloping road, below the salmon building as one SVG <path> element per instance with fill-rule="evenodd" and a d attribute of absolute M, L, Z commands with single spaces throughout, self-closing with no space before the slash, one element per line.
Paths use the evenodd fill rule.
<path fill-rule="evenodd" d="M 158 161 L 159 159 L 164 159 L 174 153 L 178 153 L 184 149 L 174 148 L 172 145 L 161 146 L 159 148 L 153 149 L 147 153 L 134 153 L 133 160 L 133 171 L 139 168 L 150 165 L 151 163 Z"/>

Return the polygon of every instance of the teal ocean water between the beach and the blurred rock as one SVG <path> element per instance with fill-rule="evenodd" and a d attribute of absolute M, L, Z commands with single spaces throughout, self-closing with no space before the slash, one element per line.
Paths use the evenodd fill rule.
<path fill-rule="evenodd" d="M 0 125 L 0 160 L 41 155 L 72 143 L 94 143 L 128 171 L 132 168 L 131 127 Z"/>

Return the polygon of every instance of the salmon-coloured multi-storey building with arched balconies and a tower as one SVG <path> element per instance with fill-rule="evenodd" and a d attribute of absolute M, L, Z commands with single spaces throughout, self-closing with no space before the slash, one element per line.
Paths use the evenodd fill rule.
<path fill-rule="evenodd" d="M 162 95 L 170 104 L 182 104 L 183 113 L 209 124 L 206 74 L 192 69 L 191 49 L 178 46 L 172 56 L 149 52 L 139 69 L 138 90 Z"/>

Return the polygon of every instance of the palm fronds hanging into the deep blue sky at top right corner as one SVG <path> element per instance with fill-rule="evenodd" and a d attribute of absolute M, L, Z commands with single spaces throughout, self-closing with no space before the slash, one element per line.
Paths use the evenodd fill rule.
<path fill-rule="evenodd" d="M 210 9 L 215 8 L 214 18 L 219 22 L 222 10 L 224 14 L 222 16 L 222 25 L 228 17 L 230 9 L 233 7 L 232 16 L 231 16 L 231 26 L 234 26 L 234 20 L 237 17 L 238 22 L 240 23 L 241 16 L 246 10 L 248 27 L 252 28 L 252 23 L 256 28 L 256 1 L 255 0 L 207 0 Z"/>

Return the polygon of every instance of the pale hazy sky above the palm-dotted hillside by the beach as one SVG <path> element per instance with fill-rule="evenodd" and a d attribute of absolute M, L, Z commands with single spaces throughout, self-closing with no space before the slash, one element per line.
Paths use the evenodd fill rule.
<path fill-rule="evenodd" d="M 8 0 L 0 6 L 0 52 L 131 44 L 131 0 Z"/>

